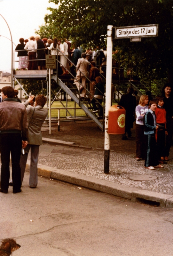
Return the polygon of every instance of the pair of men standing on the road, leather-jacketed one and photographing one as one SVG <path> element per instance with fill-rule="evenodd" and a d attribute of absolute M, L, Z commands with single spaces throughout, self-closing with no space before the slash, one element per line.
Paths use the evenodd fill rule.
<path fill-rule="evenodd" d="M 39 146 L 42 145 L 41 126 L 48 115 L 44 109 L 47 98 L 44 95 L 29 96 L 21 103 L 18 90 L 11 86 L 1 89 L 0 103 L 0 153 L 1 180 L 0 192 L 7 194 L 9 186 L 12 193 L 21 192 L 28 153 L 31 148 L 29 187 L 37 186 L 37 164 Z M 30 105 L 29 105 L 30 104 Z M 24 149 L 24 152 L 22 150 Z M 12 160 L 12 180 L 10 179 L 10 154 Z"/>

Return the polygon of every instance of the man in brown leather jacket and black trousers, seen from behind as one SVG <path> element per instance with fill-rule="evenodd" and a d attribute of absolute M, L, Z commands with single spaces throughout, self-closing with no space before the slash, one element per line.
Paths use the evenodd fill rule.
<path fill-rule="evenodd" d="M 13 193 L 21 192 L 20 154 L 28 144 L 28 119 L 26 107 L 14 97 L 14 89 L 1 89 L 3 101 L 0 104 L 0 192 L 7 194 L 10 179 L 10 153 L 12 156 Z"/>

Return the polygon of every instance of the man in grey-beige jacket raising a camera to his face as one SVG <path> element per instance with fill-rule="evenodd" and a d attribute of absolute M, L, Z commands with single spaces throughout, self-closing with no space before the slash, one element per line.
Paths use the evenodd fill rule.
<path fill-rule="evenodd" d="M 31 164 L 30 164 L 30 176 L 29 176 L 29 187 L 36 188 L 37 186 L 37 164 L 38 164 L 38 153 L 39 147 L 43 144 L 41 127 L 48 114 L 47 109 L 43 109 L 47 98 L 44 95 L 37 95 L 35 98 L 35 107 L 33 102 L 34 96 L 30 96 L 29 99 L 24 103 L 28 106 L 28 145 L 25 148 L 25 155 L 20 157 L 20 168 L 21 168 L 21 184 L 23 181 L 25 168 L 27 164 L 27 158 L 29 149 L 31 148 Z"/>

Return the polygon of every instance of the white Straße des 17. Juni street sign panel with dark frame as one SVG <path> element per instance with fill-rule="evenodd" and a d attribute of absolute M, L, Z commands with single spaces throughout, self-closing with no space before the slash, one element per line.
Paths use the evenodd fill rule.
<path fill-rule="evenodd" d="M 158 24 L 114 27 L 113 39 L 158 36 Z"/>

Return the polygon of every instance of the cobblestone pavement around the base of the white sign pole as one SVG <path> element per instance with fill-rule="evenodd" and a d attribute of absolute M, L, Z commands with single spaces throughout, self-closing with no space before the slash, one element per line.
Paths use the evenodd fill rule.
<path fill-rule="evenodd" d="M 40 146 L 38 162 L 133 188 L 173 195 L 172 159 L 164 165 L 163 169 L 151 171 L 144 168 L 144 161 L 136 161 L 134 154 L 110 152 L 110 173 L 104 174 L 103 150 L 43 144 Z M 151 181 L 130 180 L 129 177 L 133 174 L 153 174 L 158 179 Z"/>

